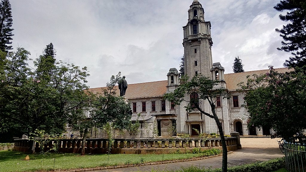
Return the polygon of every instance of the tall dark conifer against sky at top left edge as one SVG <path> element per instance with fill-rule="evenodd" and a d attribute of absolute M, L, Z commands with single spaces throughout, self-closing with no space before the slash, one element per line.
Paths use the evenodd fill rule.
<path fill-rule="evenodd" d="M 0 4 L 0 50 L 3 52 L 8 52 L 8 50 L 12 50 L 12 46 L 8 46 L 8 44 L 12 44 L 10 42 L 12 40 L 12 12 L 11 12 L 11 4 L 9 0 L 2 0 Z"/>

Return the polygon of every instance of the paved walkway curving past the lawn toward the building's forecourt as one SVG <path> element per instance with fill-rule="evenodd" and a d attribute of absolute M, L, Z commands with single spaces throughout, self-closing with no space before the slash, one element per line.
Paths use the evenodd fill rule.
<path fill-rule="evenodd" d="M 271 140 L 270 138 L 241 138 L 241 145 L 242 149 L 236 150 L 232 154 L 227 155 L 228 166 L 255 163 L 257 161 L 266 161 L 269 159 L 280 158 L 284 156 L 284 154 L 279 150 L 278 143 L 275 139 Z M 219 168 L 222 166 L 222 156 L 197 161 L 98 170 L 92 172 L 146 172 L 151 171 L 152 168 L 155 170 L 177 170 L 181 167 L 188 166 Z"/>

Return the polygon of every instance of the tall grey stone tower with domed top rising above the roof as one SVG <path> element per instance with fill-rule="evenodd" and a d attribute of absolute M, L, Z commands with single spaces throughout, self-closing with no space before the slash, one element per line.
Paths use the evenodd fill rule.
<path fill-rule="evenodd" d="M 185 74 L 190 78 L 196 74 L 211 78 L 211 23 L 204 20 L 204 9 L 198 0 L 192 2 L 183 30 Z"/>

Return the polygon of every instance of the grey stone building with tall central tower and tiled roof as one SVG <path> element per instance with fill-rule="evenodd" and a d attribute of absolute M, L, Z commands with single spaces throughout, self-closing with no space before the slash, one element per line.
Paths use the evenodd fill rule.
<path fill-rule="evenodd" d="M 227 89 L 232 98 L 230 100 L 218 99 L 216 112 L 222 122 L 224 134 L 233 131 L 240 135 L 270 135 L 271 129 L 248 128 L 246 110 L 240 107 L 244 103 L 245 92 L 237 91 L 238 83 L 246 81 L 248 75 L 267 73 L 269 70 L 248 71 L 243 73 L 224 74 L 225 69 L 219 62 L 213 63 L 211 46 L 211 23 L 204 20 L 204 9 L 199 1 L 194 0 L 188 10 L 188 23 L 183 26 L 183 46 L 185 57 L 185 74 L 193 77 L 202 74 L 220 83 L 216 87 Z M 279 68 L 278 72 L 288 69 Z M 128 79 L 128 78 L 127 78 Z M 176 68 L 165 71 L 165 79 L 156 82 L 129 84 L 125 93 L 125 99 L 131 102 L 132 120 L 136 120 L 140 113 L 140 133 L 137 137 L 153 137 L 154 128 L 161 137 L 169 137 L 169 127 L 176 127 L 177 133 L 189 133 L 191 136 L 198 135 L 194 129 L 201 133 L 219 133 L 214 119 L 205 116 L 197 110 L 186 113 L 184 102 L 179 106 L 164 100 L 165 93 L 174 91 L 180 84 L 179 73 Z M 99 92 L 101 88 L 91 88 L 93 92 Z M 193 95 L 194 96 L 194 95 Z M 190 95 L 186 95 L 186 100 Z M 205 112 L 211 113 L 208 103 L 201 103 Z M 122 137 L 128 137 L 128 134 Z"/>

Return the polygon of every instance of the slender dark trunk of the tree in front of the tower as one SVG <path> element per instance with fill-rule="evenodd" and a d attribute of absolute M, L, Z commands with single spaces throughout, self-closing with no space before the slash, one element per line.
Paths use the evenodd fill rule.
<path fill-rule="evenodd" d="M 220 137 L 221 137 L 221 143 L 222 143 L 222 172 L 227 172 L 227 147 L 226 147 L 225 137 L 224 137 L 224 133 L 223 133 L 223 128 L 222 128 L 221 122 L 219 121 L 219 118 L 216 114 L 215 109 L 212 108 L 211 110 L 212 110 L 212 113 L 214 114 L 214 117 L 215 117 L 214 119 L 217 123 L 218 130 L 219 130 Z"/>

